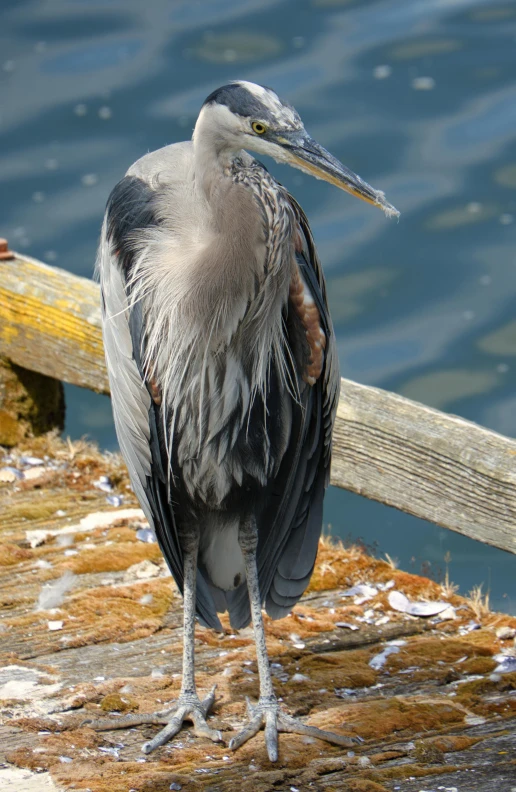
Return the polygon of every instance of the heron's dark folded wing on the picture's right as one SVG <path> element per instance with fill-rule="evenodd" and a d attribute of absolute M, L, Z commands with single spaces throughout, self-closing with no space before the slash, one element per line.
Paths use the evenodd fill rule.
<path fill-rule="evenodd" d="M 289 613 L 305 591 L 313 571 L 322 529 L 324 491 L 329 482 L 331 434 L 340 387 L 321 264 L 308 220 L 291 196 L 289 200 L 302 243 L 296 253 L 297 266 L 319 311 L 326 347 L 320 376 L 312 386 L 302 383 L 300 403 L 293 400 L 290 442 L 277 477 L 264 493 L 265 507 L 258 522 L 260 590 L 267 612 L 273 618 Z M 293 313 L 292 304 L 289 313 Z M 288 324 L 287 321 L 287 327 Z M 295 346 L 292 336 L 287 337 L 287 343 L 291 348 Z M 285 398 L 285 393 L 272 380 L 267 402 L 269 413 L 280 409 L 276 398 Z M 227 593 L 226 599 L 231 623 L 235 627 L 247 624 L 250 613 L 244 587 Z"/>

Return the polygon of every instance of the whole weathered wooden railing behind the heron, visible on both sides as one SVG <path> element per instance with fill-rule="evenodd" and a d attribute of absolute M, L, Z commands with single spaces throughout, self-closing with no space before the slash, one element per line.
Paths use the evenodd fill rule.
<path fill-rule="evenodd" d="M 18 254 L 0 261 L 0 355 L 108 393 L 98 286 Z M 516 553 L 515 440 L 343 379 L 333 460 L 332 484 Z"/>

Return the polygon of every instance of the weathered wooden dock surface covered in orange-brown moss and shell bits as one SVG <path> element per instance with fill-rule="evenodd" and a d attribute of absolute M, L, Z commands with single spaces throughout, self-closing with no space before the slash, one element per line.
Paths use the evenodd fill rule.
<path fill-rule="evenodd" d="M 288 711 L 362 737 L 355 750 L 284 734 L 271 765 L 263 734 L 232 753 L 186 729 L 145 757 L 156 727 L 94 732 L 88 718 L 152 711 L 177 695 L 181 598 L 157 545 L 141 541 L 119 458 L 41 438 L 0 456 L 0 478 L 0 789 L 516 788 L 516 618 L 328 541 L 293 613 L 267 620 L 268 648 Z M 368 599 L 345 596 L 356 584 L 372 587 Z M 451 609 L 410 616 L 391 606 L 394 591 Z M 197 629 L 196 658 L 200 690 L 218 685 L 212 723 L 229 741 L 258 676 L 250 628 L 224 626 Z"/>

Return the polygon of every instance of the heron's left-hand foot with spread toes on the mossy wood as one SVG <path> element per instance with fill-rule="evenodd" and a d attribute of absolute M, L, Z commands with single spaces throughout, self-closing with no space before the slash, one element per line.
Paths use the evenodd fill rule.
<path fill-rule="evenodd" d="M 141 724 L 165 724 L 165 728 L 161 729 L 152 740 L 142 745 L 142 751 L 145 754 L 151 753 L 151 751 L 154 751 L 161 745 L 165 745 L 172 737 L 175 737 L 181 730 L 185 720 L 192 721 L 193 732 L 197 737 L 208 737 L 208 739 L 213 742 L 224 742 L 222 734 L 217 729 L 210 728 L 206 722 L 208 712 L 215 701 L 216 687 L 217 686 L 214 685 L 206 698 L 202 701 L 196 693 L 182 693 L 174 706 L 166 710 L 147 714 L 134 713 L 131 715 L 123 715 L 120 718 L 85 721 L 85 723 L 96 731 L 130 729 L 133 726 L 140 726 Z"/>

